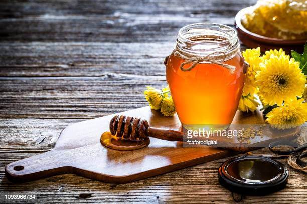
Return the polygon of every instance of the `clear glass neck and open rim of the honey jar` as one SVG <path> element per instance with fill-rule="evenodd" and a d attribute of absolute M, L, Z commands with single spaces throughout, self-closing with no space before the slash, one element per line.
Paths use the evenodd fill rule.
<path fill-rule="evenodd" d="M 237 54 L 240 44 L 233 28 L 221 24 L 198 23 L 179 30 L 176 49 L 195 56 L 218 57 L 225 54 L 226 61 Z"/>

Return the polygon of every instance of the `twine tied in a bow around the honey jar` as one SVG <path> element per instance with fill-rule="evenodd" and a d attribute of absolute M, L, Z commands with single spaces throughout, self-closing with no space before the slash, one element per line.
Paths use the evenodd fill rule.
<path fill-rule="evenodd" d="M 231 53 L 236 53 L 239 50 L 236 49 L 234 51 L 232 51 Z M 214 54 L 217 54 L 216 56 L 213 56 Z M 234 73 L 236 67 L 229 65 L 229 64 L 225 64 L 222 63 L 223 61 L 225 61 L 225 59 L 227 58 L 227 54 L 224 51 L 216 51 L 216 52 L 212 52 L 210 54 L 207 54 L 205 56 L 195 56 L 195 55 L 191 55 L 182 51 L 179 51 L 178 49 L 175 50 L 174 52 L 175 56 L 179 56 L 180 58 L 183 58 L 185 60 L 185 62 L 183 62 L 180 65 L 180 70 L 182 71 L 190 71 L 191 69 L 193 69 L 197 64 L 201 63 L 201 62 L 207 62 L 207 63 L 213 63 L 213 64 L 217 64 L 220 65 L 226 69 L 228 69 L 230 71 L 231 74 Z M 189 66 L 188 68 L 184 68 L 184 65 L 192 63 L 191 66 Z"/>

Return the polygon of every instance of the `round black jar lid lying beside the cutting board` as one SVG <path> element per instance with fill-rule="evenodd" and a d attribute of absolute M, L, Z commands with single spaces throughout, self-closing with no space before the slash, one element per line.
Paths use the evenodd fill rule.
<path fill-rule="evenodd" d="M 218 170 L 220 183 L 242 194 L 268 194 L 286 185 L 288 170 L 263 156 L 240 156 L 225 161 Z"/>

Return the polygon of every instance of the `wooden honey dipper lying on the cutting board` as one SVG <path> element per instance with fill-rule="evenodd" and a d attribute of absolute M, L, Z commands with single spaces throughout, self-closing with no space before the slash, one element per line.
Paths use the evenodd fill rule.
<path fill-rule="evenodd" d="M 184 136 L 187 136 L 180 131 L 149 127 L 147 120 L 123 115 L 116 115 L 111 119 L 110 132 L 113 136 L 116 135 L 117 138 L 130 141 L 143 141 L 148 137 L 167 141 L 183 141 Z M 251 148 L 243 147 L 241 143 L 227 141 L 218 141 L 218 143 L 219 146 L 234 151 L 246 152 L 252 150 Z"/>

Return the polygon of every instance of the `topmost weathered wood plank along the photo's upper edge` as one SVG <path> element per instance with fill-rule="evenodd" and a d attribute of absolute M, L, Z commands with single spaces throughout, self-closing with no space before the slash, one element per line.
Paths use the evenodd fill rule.
<path fill-rule="evenodd" d="M 114 11 L 135 14 L 178 14 L 183 11 L 193 14 L 218 12 L 231 15 L 240 7 L 253 5 L 257 0 L 2 0 L 0 14 L 7 18 L 21 18 L 43 14 L 70 15 L 112 14 Z M 10 15 L 11 14 L 11 15 Z"/>

